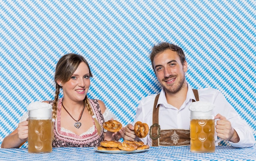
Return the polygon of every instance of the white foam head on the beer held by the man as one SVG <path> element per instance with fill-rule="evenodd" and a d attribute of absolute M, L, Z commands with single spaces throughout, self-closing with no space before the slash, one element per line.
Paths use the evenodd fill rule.
<path fill-rule="evenodd" d="M 214 104 L 210 102 L 196 101 L 189 106 L 191 119 L 214 119 Z"/>

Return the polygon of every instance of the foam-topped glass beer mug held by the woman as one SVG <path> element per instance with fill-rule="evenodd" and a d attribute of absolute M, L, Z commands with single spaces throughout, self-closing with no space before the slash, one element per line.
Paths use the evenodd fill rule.
<path fill-rule="evenodd" d="M 45 102 L 33 102 L 29 111 L 28 152 L 52 152 L 52 105 Z"/>

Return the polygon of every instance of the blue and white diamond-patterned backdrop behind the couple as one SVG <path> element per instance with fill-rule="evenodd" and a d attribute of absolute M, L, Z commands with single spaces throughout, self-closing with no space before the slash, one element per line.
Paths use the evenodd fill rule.
<path fill-rule="evenodd" d="M 182 47 L 193 88 L 219 89 L 256 135 L 255 9 L 255 0 L 2 0 L 0 144 L 29 103 L 54 99 L 55 65 L 70 52 L 90 64 L 89 98 L 132 122 L 139 100 L 160 91 L 148 55 L 161 41 Z"/>

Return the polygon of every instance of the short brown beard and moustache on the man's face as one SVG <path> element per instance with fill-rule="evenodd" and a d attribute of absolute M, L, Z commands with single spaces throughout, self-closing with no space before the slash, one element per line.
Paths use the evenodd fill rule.
<path fill-rule="evenodd" d="M 162 81 L 169 79 L 169 78 L 173 78 L 173 77 L 175 77 L 175 76 L 171 75 L 168 78 L 163 79 Z M 168 85 L 162 84 L 162 86 L 164 87 L 165 92 L 175 94 L 182 89 L 182 87 L 184 86 L 184 82 L 185 82 L 185 74 L 183 75 L 182 79 L 177 83 L 177 85 L 168 86 Z"/>

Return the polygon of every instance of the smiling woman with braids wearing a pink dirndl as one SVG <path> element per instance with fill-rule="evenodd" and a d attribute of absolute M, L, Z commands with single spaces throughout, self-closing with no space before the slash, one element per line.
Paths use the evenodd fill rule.
<path fill-rule="evenodd" d="M 103 132 L 104 120 L 115 119 L 101 100 L 88 99 L 92 73 L 87 61 L 78 54 L 66 54 L 58 61 L 55 71 L 55 99 L 52 104 L 54 123 L 53 147 L 96 147 L 103 140 L 118 140 L 118 133 Z M 60 89 L 63 98 L 59 98 Z M 10 135 L 2 148 L 19 148 L 27 141 L 28 113 Z"/>

